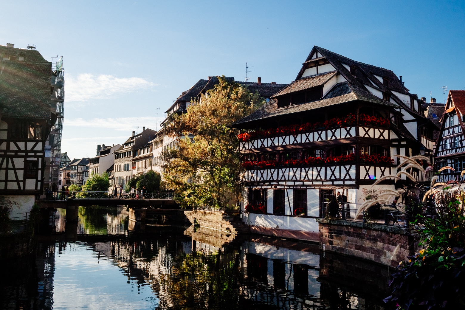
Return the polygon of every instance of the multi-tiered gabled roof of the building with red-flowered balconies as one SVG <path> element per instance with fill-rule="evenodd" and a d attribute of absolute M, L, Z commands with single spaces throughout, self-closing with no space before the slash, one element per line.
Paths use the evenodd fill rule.
<path fill-rule="evenodd" d="M 329 64 L 333 69 L 335 69 L 335 71 L 317 73 L 311 76 L 302 77 L 306 69 L 312 66 L 311 64 L 309 65 L 309 63 L 312 62 L 318 63 L 319 66 Z M 317 71 L 315 70 L 315 72 Z M 331 84 L 332 82 L 329 82 L 329 80 L 332 79 L 336 74 L 339 74 L 337 78 L 339 83 L 334 85 Z M 383 84 L 383 79 L 387 81 L 387 85 Z M 278 108 L 277 100 L 273 99 L 265 103 L 252 114 L 234 122 L 233 126 L 246 128 L 247 126 L 252 126 L 254 121 L 261 119 L 310 111 L 313 109 L 347 103 L 354 100 L 361 100 L 367 103 L 383 106 L 392 106 L 395 108 L 403 108 L 408 110 L 408 112 L 411 113 L 415 118 L 427 121 L 425 119 L 425 115 L 419 114 L 419 112 L 416 111 L 412 111 L 410 106 L 406 106 L 405 102 L 402 102 L 400 98 L 397 98 L 397 96 L 400 96 L 399 94 L 396 95 L 393 93 L 398 92 L 413 98 L 417 97 L 416 95 L 409 93 L 408 89 L 403 86 L 399 78 L 391 70 L 364 64 L 362 62 L 355 61 L 337 53 L 328 51 L 319 46 L 314 46 L 312 48 L 312 52 L 308 55 L 306 61 L 300 69 L 295 82 L 289 86 L 286 86 L 286 88 L 280 92 L 274 94 L 272 98 L 276 98 L 277 96 L 284 94 L 301 92 L 316 86 L 323 86 L 326 83 L 328 83 L 330 86 L 329 91 L 322 99 L 318 101 L 293 104 L 291 106 Z M 386 101 L 379 98 L 378 96 L 375 96 L 371 91 L 378 91 L 379 93 L 387 92 L 392 99 L 390 101 Z"/>

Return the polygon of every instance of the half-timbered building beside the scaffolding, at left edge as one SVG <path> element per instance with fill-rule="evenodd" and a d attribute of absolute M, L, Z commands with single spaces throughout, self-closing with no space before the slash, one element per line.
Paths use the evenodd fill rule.
<path fill-rule="evenodd" d="M 52 62 L 38 51 L 0 46 L 0 195 L 20 212 L 44 189 L 45 142 L 56 120 L 51 76 Z"/>

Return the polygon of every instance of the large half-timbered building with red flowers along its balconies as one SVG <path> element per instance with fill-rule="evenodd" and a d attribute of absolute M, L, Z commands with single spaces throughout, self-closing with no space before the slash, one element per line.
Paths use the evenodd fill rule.
<path fill-rule="evenodd" d="M 338 191 L 356 209 L 393 188 L 372 187 L 397 172 L 393 155 L 432 157 L 435 125 L 424 113 L 391 70 L 313 47 L 295 81 L 233 123 L 241 130 L 246 223 L 317 239 L 315 218 Z"/>

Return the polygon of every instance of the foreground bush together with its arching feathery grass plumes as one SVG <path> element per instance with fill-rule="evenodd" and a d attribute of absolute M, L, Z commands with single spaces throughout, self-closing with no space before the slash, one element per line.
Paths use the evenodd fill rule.
<path fill-rule="evenodd" d="M 398 189 L 386 191 L 378 200 L 368 200 L 361 208 L 367 212 L 379 202 L 389 201 L 389 197 L 394 197 L 395 202 L 402 201 L 401 208 L 412 236 L 411 246 L 418 244 L 421 249 L 399 263 L 389 284 L 392 295 L 385 302 L 405 310 L 462 309 L 465 306 L 464 184 L 437 182 L 441 171 L 453 170 L 452 167 L 435 173 L 427 158 L 399 157 L 402 159 L 397 167 L 399 173 L 375 182 L 391 178 L 396 180 Z M 414 171 L 423 173 L 430 182 L 415 182 Z M 383 208 L 396 207 L 392 203 Z"/>

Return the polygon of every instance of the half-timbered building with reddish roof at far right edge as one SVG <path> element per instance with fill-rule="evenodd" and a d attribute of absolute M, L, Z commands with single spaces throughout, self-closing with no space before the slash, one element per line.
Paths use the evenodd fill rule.
<path fill-rule="evenodd" d="M 443 182 L 463 181 L 461 171 L 465 170 L 465 91 L 451 90 L 440 115 L 440 132 L 435 151 L 437 169 L 450 166 L 439 174 Z"/>

